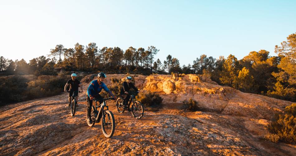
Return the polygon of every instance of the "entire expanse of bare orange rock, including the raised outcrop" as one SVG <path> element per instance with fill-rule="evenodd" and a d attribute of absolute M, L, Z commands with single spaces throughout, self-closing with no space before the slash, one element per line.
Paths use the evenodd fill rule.
<path fill-rule="evenodd" d="M 124 75 L 108 75 L 107 85 L 112 77 Z M 3 106 L 0 155 L 296 155 L 295 145 L 263 139 L 273 113 L 289 101 L 242 93 L 194 75 L 134 77 L 141 90 L 161 94 L 162 109 L 136 120 L 108 101 L 116 129 L 107 139 L 100 124 L 86 123 L 85 93 L 79 94 L 74 117 L 65 107 L 67 94 Z M 182 110 L 181 101 L 189 97 L 203 110 Z"/>

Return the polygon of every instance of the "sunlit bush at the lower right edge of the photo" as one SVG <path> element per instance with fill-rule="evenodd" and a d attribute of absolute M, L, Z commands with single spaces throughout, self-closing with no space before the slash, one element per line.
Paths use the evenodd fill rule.
<path fill-rule="evenodd" d="M 285 108 L 284 113 L 275 114 L 268 125 L 271 134 L 277 134 L 279 140 L 287 143 L 296 143 L 296 104 Z"/>

